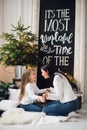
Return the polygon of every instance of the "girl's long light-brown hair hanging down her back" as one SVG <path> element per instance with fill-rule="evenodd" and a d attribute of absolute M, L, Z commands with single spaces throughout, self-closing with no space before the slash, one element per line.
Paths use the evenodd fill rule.
<path fill-rule="evenodd" d="M 31 69 L 25 70 L 25 72 L 22 75 L 22 78 L 21 78 L 21 87 L 20 87 L 21 91 L 20 91 L 20 95 L 19 95 L 19 101 L 22 100 L 22 97 L 25 94 L 25 86 L 26 86 L 27 83 L 30 82 L 29 76 L 32 73 L 32 71 L 35 72 L 35 69 L 31 68 Z"/>

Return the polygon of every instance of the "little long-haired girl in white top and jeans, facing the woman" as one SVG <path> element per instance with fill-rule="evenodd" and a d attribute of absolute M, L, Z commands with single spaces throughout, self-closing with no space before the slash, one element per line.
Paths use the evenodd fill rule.
<path fill-rule="evenodd" d="M 38 94 L 44 93 L 46 89 L 39 89 L 35 83 L 36 74 L 35 69 L 26 70 L 23 73 L 21 79 L 21 91 L 19 95 L 20 107 L 25 111 L 42 111 L 42 107 L 38 103 L 34 104 L 36 101 L 42 103 L 45 102 L 44 96 L 39 96 Z"/>

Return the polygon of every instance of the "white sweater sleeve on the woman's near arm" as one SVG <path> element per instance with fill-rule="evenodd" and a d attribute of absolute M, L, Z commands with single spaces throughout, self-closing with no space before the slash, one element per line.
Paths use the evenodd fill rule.
<path fill-rule="evenodd" d="M 62 77 L 56 75 L 53 80 L 54 90 L 48 93 L 47 99 L 49 100 L 62 100 L 63 97 L 63 80 Z"/>

